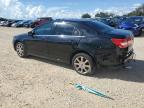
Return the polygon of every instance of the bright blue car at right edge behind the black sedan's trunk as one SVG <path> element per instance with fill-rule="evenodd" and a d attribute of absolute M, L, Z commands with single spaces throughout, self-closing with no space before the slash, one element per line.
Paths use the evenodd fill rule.
<path fill-rule="evenodd" d="M 144 29 L 144 16 L 129 17 L 119 25 L 120 29 L 130 30 L 135 36 L 141 36 Z"/>

